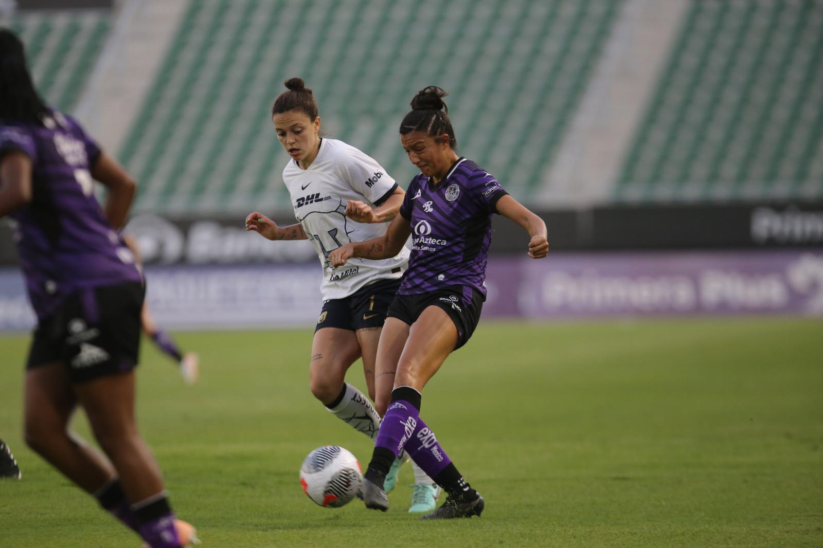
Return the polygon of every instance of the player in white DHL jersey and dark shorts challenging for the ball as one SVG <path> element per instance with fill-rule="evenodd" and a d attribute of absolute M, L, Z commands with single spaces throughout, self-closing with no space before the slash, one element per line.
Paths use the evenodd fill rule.
<path fill-rule="evenodd" d="M 385 409 L 375 409 L 369 398 L 347 384 L 346 371 L 362 357 L 369 396 L 376 401 L 374 377 L 383 373 L 375 371 L 377 345 L 409 251 L 383 261 L 348 262 L 343 268 L 332 267 L 328 256 L 343 244 L 384 235 L 405 193 L 370 156 L 345 142 L 320 137 L 317 104 L 302 79 L 291 78 L 286 87 L 289 91 L 274 102 L 272 122 L 291 156 L 283 182 L 298 222 L 280 227 L 253 211 L 246 217 L 246 230 L 267 239 L 309 239 L 314 245 L 323 267 L 323 309 L 314 329 L 309 388 L 334 415 L 374 439 Z M 380 399 L 388 402 L 389 395 L 384 396 Z M 406 458 L 398 458 L 392 467 L 389 487 L 397 482 Z M 409 511 L 434 509 L 437 485 L 419 468 L 415 483 Z"/>

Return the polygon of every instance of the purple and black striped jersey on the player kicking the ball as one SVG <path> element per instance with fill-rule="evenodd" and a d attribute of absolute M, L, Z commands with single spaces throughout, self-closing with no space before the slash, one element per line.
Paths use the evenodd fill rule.
<path fill-rule="evenodd" d="M 412 227 L 412 255 L 398 293 L 469 286 L 485 296 L 491 214 L 506 194 L 493 175 L 465 158 L 437 184 L 424 174 L 412 179 L 400 207 Z"/>

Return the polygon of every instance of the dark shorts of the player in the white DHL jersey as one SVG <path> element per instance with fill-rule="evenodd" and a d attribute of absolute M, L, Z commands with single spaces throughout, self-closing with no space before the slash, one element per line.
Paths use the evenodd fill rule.
<path fill-rule="evenodd" d="M 344 299 L 323 302 L 314 332 L 323 327 L 357 331 L 364 327 L 383 327 L 388 305 L 400 289 L 400 279 L 379 280 L 361 287 Z"/>

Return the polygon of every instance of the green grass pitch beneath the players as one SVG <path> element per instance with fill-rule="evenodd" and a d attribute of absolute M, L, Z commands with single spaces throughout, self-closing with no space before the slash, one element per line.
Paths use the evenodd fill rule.
<path fill-rule="evenodd" d="M 203 546 L 823 546 L 823 323 L 722 319 L 481 323 L 423 416 L 486 497 L 419 522 L 411 467 L 388 513 L 321 509 L 300 462 L 371 445 L 308 389 L 311 332 L 180 333 L 197 386 L 144 346 L 138 411 Z M 140 546 L 21 441 L 27 337 L 0 337 L 0 546 Z M 364 386 L 360 365 L 348 379 Z M 85 418 L 76 420 L 83 435 Z M 441 499 L 442 500 L 442 499 Z"/>

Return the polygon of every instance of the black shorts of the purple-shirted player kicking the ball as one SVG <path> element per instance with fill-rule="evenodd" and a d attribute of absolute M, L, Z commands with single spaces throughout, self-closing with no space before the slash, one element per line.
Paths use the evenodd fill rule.
<path fill-rule="evenodd" d="M 472 337 L 480 321 L 484 300 L 486 297 L 480 291 L 468 286 L 444 287 L 419 295 L 398 295 L 388 307 L 388 317 L 398 318 L 412 325 L 420 318 L 423 310 L 429 306 L 437 306 L 449 314 L 454 327 L 458 328 L 458 344 L 454 346 L 454 350 L 457 350 Z"/>

